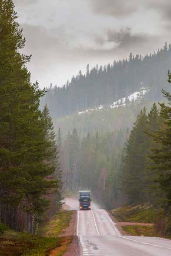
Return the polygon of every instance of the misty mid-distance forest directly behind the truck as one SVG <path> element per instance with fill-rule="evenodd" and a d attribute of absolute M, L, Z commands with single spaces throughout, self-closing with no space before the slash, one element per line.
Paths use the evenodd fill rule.
<path fill-rule="evenodd" d="M 118 195 L 119 159 L 128 133 L 128 129 L 103 136 L 97 132 L 83 139 L 76 129 L 68 133 L 61 149 L 64 189 L 91 189 L 105 207 L 117 206 L 121 199 Z"/>

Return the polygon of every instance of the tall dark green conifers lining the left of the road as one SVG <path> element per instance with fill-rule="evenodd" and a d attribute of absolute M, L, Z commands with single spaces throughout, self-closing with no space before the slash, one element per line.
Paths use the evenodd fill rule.
<path fill-rule="evenodd" d="M 39 110 L 45 91 L 30 82 L 16 19 L 13 1 L 0 0 L 0 222 L 35 232 L 59 167 L 49 113 Z"/>

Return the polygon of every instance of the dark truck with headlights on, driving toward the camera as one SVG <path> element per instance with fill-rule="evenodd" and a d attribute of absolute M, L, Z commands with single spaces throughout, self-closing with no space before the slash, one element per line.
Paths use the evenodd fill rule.
<path fill-rule="evenodd" d="M 80 190 L 79 197 L 79 208 L 81 210 L 91 210 L 91 191 L 90 190 Z"/>

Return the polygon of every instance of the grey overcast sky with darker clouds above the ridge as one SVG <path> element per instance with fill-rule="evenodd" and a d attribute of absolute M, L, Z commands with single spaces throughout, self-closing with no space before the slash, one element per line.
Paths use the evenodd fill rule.
<path fill-rule="evenodd" d="M 40 87 L 171 42 L 171 0 L 14 0 Z"/>

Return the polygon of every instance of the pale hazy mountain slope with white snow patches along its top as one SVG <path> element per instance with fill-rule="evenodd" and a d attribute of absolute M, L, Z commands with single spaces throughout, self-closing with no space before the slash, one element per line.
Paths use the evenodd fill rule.
<path fill-rule="evenodd" d="M 137 118 L 138 112 L 144 107 L 149 110 L 153 104 L 147 100 L 149 89 L 142 88 L 139 92 L 121 98 L 110 105 L 101 105 L 97 108 L 90 108 L 75 112 L 61 118 L 54 119 L 56 130 L 61 128 L 64 137 L 68 131 L 77 129 L 80 137 L 86 136 L 88 132 L 95 135 L 96 131 L 100 134 L 119 130 L 120 128 L 132 128 Z"/>

